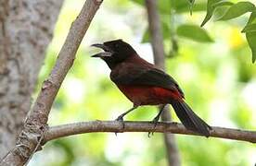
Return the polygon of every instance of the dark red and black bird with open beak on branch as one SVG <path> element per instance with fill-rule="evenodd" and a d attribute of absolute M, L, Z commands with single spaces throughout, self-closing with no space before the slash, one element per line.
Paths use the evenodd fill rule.
<path fill-rule="evenodd" d="M 174 78 L 141 58 L 129 43 L 118 39 L 95 43 L 92 46 L 103 50 L 92 57 L 106 62 L 111 70 L 111 81 L 134 104 L 133 108 L 118 116 L 117 121 L 123 123 L 123 117 L 139 106 L 162 105 L 162 109 L 152 121 L 156 126 L 163 106 L 171 104 L 186 129 L 198 135 L 210 136 L 211 126 L 186 104 L 185 94 Z"/>

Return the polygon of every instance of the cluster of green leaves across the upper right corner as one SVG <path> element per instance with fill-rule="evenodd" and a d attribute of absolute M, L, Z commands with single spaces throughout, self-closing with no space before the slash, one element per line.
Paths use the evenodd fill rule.
<path fill-rule="evenodd" d="M 144 0 L 134 0 L 135 3 L 144 6 Z M 198 42 L 212 42 L 211 36 L 207 30 L 202 27 L 214 16 L 216 21 L 227 21 L 233 18 L 241 17 L 246 13 L 250 13 L 247 24 L 241 32 L 246 34 L 246 39 L 252 53 L 252 62 L 256 60 L 256 7 L 249 1 L 241 1 L 233 3 L 224 0 L 208 0 L 207 2 L 195 0 L 160 0 L 158 7 L 161 15 L 161 25 L 164 40 L 170 40 L 172 43 L 170 52 L 167 54 L 178 52 L 178 41 L 176 35 Z M 222 9 L 222 12 L 217 12 Z M 206 11 L 205 18 L 200 26 L 195 24 L 182 23 L 178 18 L 180 14 L 189 12 Z M 221 16 L 218 16 L 220 15 Z M 142 42 L 150 41 L 149 30 L 144 33 Z"/>

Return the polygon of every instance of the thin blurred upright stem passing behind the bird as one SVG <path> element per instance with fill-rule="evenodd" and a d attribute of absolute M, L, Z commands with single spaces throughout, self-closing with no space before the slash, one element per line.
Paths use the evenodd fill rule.
<path fill-rule="evenodd" d="M 151 35 L 151 45 L 154 53 L 154 62 L 162 70 L 165 70 L 165 55 L 163 47 L 163 37 L 161 32 L 160 15 L 158 13 L 157 2 L 146 0 L 148 27 Z M 169 107 L 165 107 L 161 114 L 163 121 L 172 121 Z M 170 166 L 180 166 L 181 160 L 176 145 L 175 137 L 172 134 L 164 134 L 164 142 L 167 150 L 167 159 Z"/>

